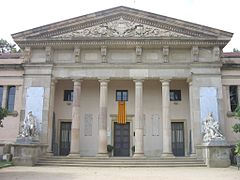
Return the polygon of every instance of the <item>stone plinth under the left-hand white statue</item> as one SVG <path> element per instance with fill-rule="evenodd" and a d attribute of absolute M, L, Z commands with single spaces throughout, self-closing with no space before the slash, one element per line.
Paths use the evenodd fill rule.
<path fill-rule="evenodd" d="M 46 153 L 47 144 L 13 144 L 13 164 L 15 166 L 34 166 L 38 158 Z"/>

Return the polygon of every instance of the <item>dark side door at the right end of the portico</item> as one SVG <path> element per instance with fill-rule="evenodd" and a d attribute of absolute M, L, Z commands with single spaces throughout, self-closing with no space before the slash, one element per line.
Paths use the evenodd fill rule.
<path fill-rule="evenodd" d="M 172 123 L 172 152 L 174 156 L 185 155 L 183 122 Z"/>

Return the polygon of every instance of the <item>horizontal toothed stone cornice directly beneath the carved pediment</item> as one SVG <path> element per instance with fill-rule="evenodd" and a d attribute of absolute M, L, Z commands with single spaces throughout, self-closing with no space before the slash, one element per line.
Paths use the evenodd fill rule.
<path fill-rule="evenodd" d="M 81 40 L 49 40 L 49 39 L 29 39 L 23 41 L 17 41 L 20 47 L 46 47 L 46 46 L 78 46 L 79 48 L 95 48 L 101 46 L 108 47 L 136 47 L 136 45 L 141 47 L 153 47 L 153 46 L 220 46 L 223 48 L 228 40 L 216 40 L 216 39 L 189 39 L 189 38 L 85 38 Z"/>

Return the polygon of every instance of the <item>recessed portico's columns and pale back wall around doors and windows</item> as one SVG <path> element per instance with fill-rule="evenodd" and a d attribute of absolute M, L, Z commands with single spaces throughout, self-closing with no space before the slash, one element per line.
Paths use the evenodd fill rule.
<path fill-rule="evenodd" d="M 114 144 L 115 129 L 112 125 L 112 118 L 117 115 L 115 98 L 116 91 L 119 89 L 128 91 L 127 116 L 131 117 L 129 154 L 132 154 L 131 148 L 135 146 L 134 157 L 136 158 L 146 155 L 172 156 L 171 122 L 184 122 L 185 155 L 190 153 L 188 149 L 190 119 L 187 110 L 189 109 L 189 94 L 186 80 L 81 78 L 58 79 L 54 80 L 54 84 L 55 124 L 53 126 L 56 127 L 56 130 L 52 133 L 51 139 L 54 147 L 59 147 L 53 149 L 55 155 L 61 154 L 61 138 L 64 138 L 61 123 L 64 122 L 72 124 L 71 138 L 69 139 L 70 156 L 106 157 L 108 155 L 107 144 Z M 175 87 L 181 90 L 181 102 L 170 101 L 169 93 L 168 95 L 164 94 Z M 64 101 L 66 90 L 73 91 L 72 100 Z M 76 109 L 77 112 L 75 112 Z M 184 113 L 177 113 L 184 109 Z M 169 115 L 162 113 L 167 111 Z M 170 112 L 176 113 L 172 113 L 170 116 Z M 164 128 L 165 126 L 167 128 Z M 88 144 L 89 142 L 92 144 Z"/>

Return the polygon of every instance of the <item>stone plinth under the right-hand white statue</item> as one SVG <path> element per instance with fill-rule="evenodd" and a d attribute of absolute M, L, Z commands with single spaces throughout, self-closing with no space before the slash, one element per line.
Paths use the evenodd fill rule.
<path fill-rule="evenodd" d="M 230 147 L 225 140 L 212 140 L 197 146 L 202 149 L 205 163 L 210 168 L 225 168 L 230 166 Z"/>

